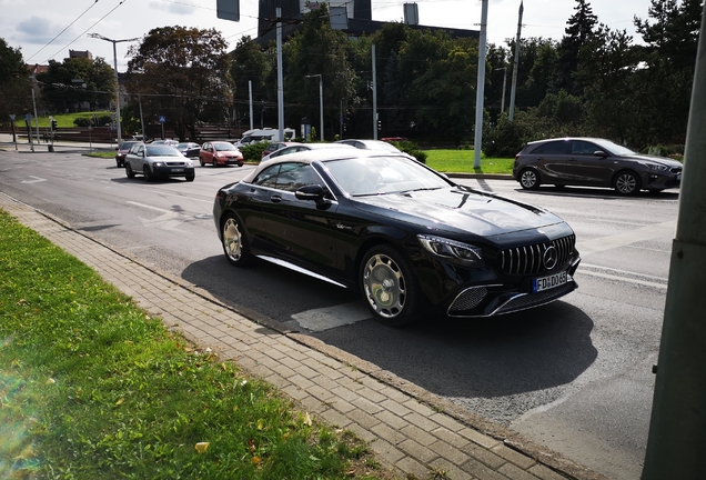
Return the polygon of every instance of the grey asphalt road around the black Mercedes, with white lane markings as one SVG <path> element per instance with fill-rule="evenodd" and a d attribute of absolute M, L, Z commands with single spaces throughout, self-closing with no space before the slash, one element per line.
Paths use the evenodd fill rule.
<path fill-rule="evenodd" d="M 609 190 L 458 180 L 545 207 L 574 228 L 579 289 L 493 319 L 373 321 L 353 293 L 282 268 L 230 267 L 211 209 L 252 167 L 196 167 L 196 179 L 128 179 L 114 160 L 0 151 L 0 191 L 211 293 L 446 397 L 615 479 L 642 471 L 678 190 Z"/>

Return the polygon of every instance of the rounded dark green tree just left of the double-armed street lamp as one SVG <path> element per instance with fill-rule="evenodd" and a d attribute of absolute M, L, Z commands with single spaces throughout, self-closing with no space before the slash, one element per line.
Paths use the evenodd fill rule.
<path fill-rule="evenodd" d="M 50 60 L 37 81 L 44 104 L 56 112 L 108 108 L 115 98 L 115 73 L 100 57 Z"/>

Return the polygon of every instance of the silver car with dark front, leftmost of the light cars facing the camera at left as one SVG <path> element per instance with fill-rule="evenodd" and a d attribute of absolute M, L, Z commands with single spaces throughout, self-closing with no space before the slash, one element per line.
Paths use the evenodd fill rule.
<path fill-rule="evenodd" d="M 133 146 L 125 157 L 125 174 L 128 178 L 142 174 L 148 181 L 169 177 L 193 181 L 195 178 L 193 162 L 174 147 L 161 143 Z"/>

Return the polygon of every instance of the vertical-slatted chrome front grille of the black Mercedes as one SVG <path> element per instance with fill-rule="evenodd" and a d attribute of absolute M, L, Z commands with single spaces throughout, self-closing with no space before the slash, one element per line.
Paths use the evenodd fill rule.
<path fill-rule="evenodd" d="M 503 250 L 500 254 L 501 267 L 507 274 L 536 274 L 547 271 L 545 253 L 549 247 L 556 249 L 557 266 L 564 264 L 574 254 L 575 236 L 562 237 L 543 243 L 515 247 Z"/>

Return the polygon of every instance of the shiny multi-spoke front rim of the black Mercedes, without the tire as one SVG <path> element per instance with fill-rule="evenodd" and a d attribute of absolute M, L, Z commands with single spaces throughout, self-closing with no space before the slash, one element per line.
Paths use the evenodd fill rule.
<path fill-rule="evenodd" d="M 406 282 L 400 266 L 384 253 L 371 257 L 363 269 L 365 298 L 380 317 L 397 317 L 406 303 Z"/>

